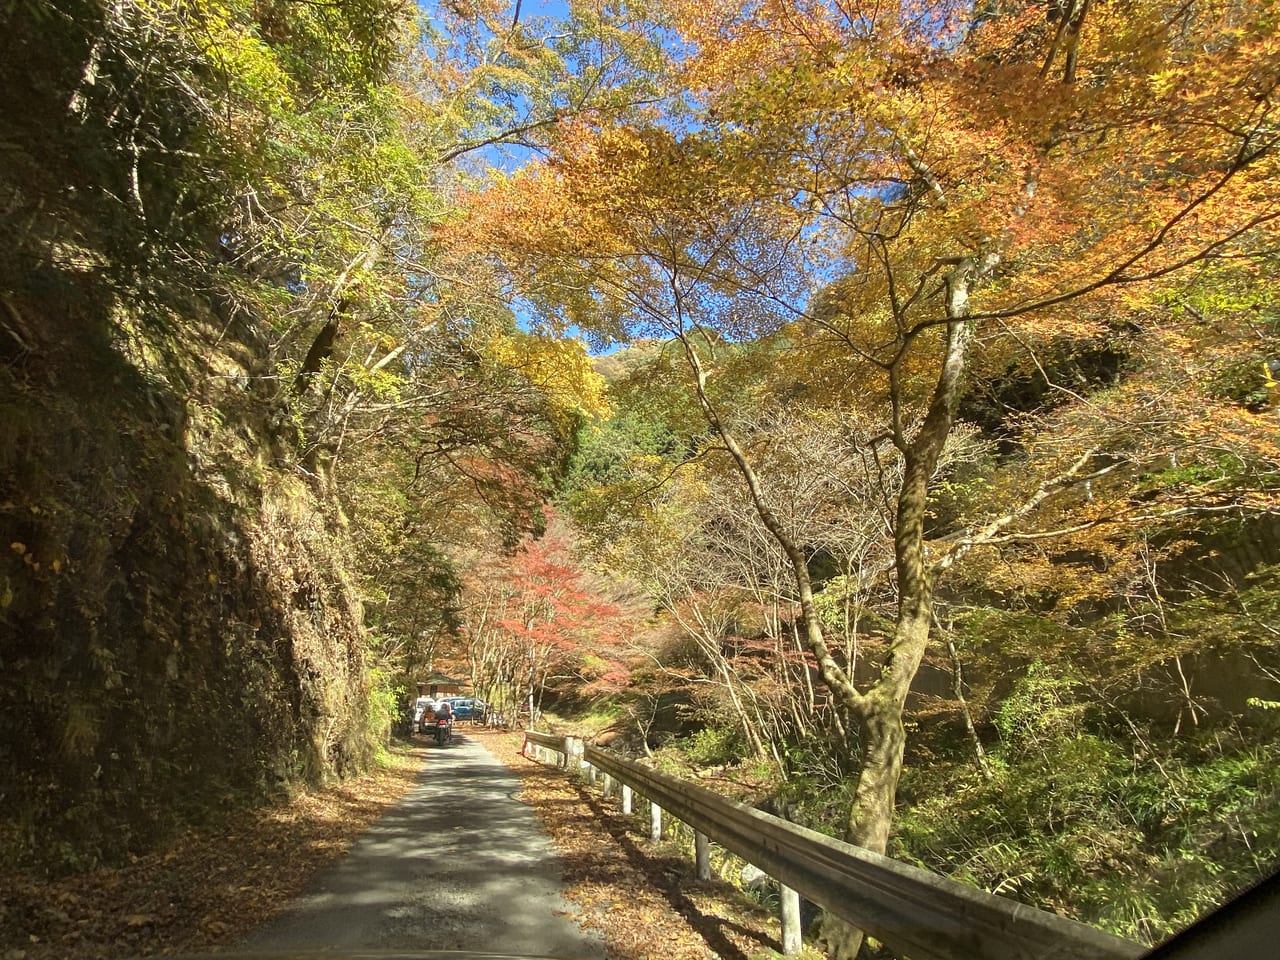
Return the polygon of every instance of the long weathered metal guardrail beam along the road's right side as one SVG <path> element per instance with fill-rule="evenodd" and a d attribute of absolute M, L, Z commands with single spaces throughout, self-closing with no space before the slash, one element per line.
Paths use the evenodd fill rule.
<path fill-rule="evenodd" d="M 572 737 L 526 733 L 564 755 Z M 1130 960 L 1133 941 L 873 854 L 586 744 L 581 759 L 780 883 L 911 957 Z"/>

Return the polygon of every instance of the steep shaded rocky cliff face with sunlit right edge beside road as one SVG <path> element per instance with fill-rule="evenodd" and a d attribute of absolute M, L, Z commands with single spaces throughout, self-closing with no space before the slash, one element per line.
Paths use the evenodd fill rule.
<path fill-rule="evenodd" d="M 0 863 L 118 858 L 371 755 L 340 516 L 275 380 L 248 330 L 141 310 L 0 305 Z"/>

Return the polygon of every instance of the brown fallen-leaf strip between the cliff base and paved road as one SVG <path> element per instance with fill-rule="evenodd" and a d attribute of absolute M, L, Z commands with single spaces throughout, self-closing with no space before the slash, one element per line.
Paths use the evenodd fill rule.
<path fill-rule="evenodd" d="M 422 748 L 390 767 L 116 868 L 45 879 L 0 874 L 0 960 L 118 960 L 233 943 L 297 896 L 417 780 Z"/>

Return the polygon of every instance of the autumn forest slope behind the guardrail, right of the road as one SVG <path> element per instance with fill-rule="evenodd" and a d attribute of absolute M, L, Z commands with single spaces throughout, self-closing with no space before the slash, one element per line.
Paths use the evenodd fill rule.
<path fill-rule="evenodd" d="M 1267 872 L 1274 9 L 662 9 L 680 96 L 458 229 L 646 340 L 566 493 L 662 612 L 637 728 L 1126 936 Z"/>

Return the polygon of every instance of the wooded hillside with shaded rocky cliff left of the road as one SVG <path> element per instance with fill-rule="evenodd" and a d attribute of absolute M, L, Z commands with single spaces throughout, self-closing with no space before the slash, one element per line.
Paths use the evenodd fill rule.
<path fill-rule="evenodd" d="M 460 157 L 518 125 L 515 74 L 489 102 L 433 29 L 383 0 L 5 8 L 5 863 L 366 767 L 457 622 L 447 548 L 543 524 L 599 399 L 431 239 Z"/>

